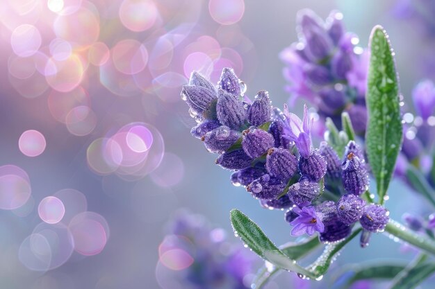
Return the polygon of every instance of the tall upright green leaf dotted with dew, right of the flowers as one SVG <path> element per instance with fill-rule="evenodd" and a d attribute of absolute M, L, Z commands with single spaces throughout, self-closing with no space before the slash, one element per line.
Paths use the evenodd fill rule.
<path fill-rule="evenodd" d="M 373 28 L 369 46 L 366 149 L 382 204 L 402 144 L 399 84 L 391 44 L 384 28 Z"/>

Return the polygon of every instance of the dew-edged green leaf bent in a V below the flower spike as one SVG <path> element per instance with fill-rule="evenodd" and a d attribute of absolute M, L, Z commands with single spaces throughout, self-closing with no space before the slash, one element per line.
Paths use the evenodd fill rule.
<path fill-rule="evenodd" d="M 231 210 L 230 218 L 234 234 L 240 236 L 243 242 L 245 242 L 253 252 L 258 254 L 258 256 L 261 256 L 261 258 L 270 262 L 277 268 L 296 272 L 299 275 L 311 279 L 321 279 L 323 274 L 327 272 L 329 265 L 340 249 L 343 249 L 343 247 L 361 231 L 361 228 L 356 229 L 345 240 L 326 245 L 323 254 L 307 268 L 303 268 L 296 263 L 295 259 L 290 258 L 281 251 L 281 249 L 274 245 L 263 231 L 261 231 L 260 227 L 245 216 L 244 213 L 237 209 L 233 209 Z"/>

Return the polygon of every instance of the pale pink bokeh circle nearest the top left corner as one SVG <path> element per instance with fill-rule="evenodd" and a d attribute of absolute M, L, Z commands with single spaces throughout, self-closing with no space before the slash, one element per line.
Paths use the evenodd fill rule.
<path fill-rule="evenodd" d="M 28 57 L 36 53 L 41 46 L 41 34 L 33 25 L 23 24 L 13 30 L 10 45 L 15 54 Z"/>

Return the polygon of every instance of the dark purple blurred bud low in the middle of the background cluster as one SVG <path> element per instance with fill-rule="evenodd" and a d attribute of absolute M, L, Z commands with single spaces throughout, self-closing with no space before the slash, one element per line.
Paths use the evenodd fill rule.
<path fill-rule="evenodd" d="M 347 103 L 347 96 L 343 90 L 337 90 L 334 87 L 324 87 L 318 94 L 320 96 L 319 112 L 327 116 L 334 116 L 343 111 Z"/>

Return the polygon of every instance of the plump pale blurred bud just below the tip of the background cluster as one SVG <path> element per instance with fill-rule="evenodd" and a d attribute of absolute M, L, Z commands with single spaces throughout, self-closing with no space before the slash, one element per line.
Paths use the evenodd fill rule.
<path fill-rule="evenodd" d="M 329 35 L 323 28 L 312 28 L 305 35 L 306 55 L 313 61 L 327 58 L 332 51 L 333 44 Z"/>

